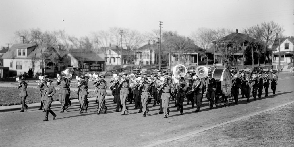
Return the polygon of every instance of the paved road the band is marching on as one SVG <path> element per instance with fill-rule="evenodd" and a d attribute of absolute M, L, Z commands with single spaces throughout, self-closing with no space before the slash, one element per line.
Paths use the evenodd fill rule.
<path fill-rule="evenodd" d="M 204 98 L 198 113 L 185 101 L 184 115 L 179 115 L 171 101 L 168 118 L 158 114 L 158 106 L 149 106 L 149 115 L 142 117 L 133 104 L 128 104 L 130 113 L 121 116 L 111 100 L 106 101 L 106 114 L 96 115 L 93 103 L 87 113 L 79 114 L 74 105 L 66 113 L 54 108 L 56 120 L 49 114 L 47 122 L 43 122 L 41 110 L 0 113 L 0 142 L 1 146 L 146 146 L 293 101 L 294 78 L 279 79 L 278 83 L 276 96 L 269 90 L 266 98 L 252 101 L 251 96 L 250 103 L 241 98 L 238 105 L 226 108 L 220 105 L 210 110 Z"/>

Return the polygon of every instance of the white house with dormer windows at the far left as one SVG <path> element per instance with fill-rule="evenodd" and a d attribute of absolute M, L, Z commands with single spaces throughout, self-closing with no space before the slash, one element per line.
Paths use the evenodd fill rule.
<path fill-rule="evenodd" d="M 9 67 L 9 70 L 16 70 L 17 75 L 24 72 L 28 73 L 29 68 L 32 68 L 31 52 L 36 49 L 33 44 L 14 44 L 4 53 L 3 66 Z M 41 56 L 37 54 L 37 56 Z M 34 75 L 37 72 L 42 72 L 40 62 L 35 62 Z"/>

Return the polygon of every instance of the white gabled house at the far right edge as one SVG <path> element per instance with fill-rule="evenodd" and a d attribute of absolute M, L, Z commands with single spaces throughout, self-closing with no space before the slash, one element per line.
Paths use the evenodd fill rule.
<path fill-rule="evenodd" d="M 294 53 L 294 38 L 291 37 L 283 37 L 283 38 L 276 38 L 273 43 L 273 63 L 279 62 L 279 49 L 280 49 L 280 62 L 281 63 L 291 63 L 292 56 Z"/>

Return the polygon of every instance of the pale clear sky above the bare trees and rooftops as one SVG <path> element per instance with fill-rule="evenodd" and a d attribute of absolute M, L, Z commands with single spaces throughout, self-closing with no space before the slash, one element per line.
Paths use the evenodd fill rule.
<path fill-rule="evenodd" d="M 294 0 L 1 0 L 0 46 L 15 43 L 18 30 L 65 30 L 79 38 L 110 27 L 151 32 L 159 21 L 163 31 L 189 36 L 201 27 L 242 33 L 273 20 L 294 36 L 293 14 Z"/>

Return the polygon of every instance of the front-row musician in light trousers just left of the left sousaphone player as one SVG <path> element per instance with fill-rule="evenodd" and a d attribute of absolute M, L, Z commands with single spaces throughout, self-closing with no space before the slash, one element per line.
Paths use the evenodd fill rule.
<path fill-rule="evenodd" d="M 171 94 L 170 94 L 171 86 L 169 85 L 168 81 L 169 81 L 168 78 L 164 78 L 164 84 L 158 88 L 159 91 L 162 90 L 161 106 L 163 108 L 163 113 L 164 113 L 163 118 L 166 118 L 169 115 L 168 105 L 169 105 L 169 99 L 171 98 Z"/>

